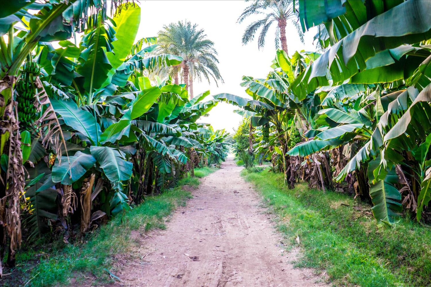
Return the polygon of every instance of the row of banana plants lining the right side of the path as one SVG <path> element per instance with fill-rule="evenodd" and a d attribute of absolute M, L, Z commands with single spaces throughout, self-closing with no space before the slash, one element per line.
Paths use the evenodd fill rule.
<path fill-rule="evenodd" d="M 300 1 L 323 52 L 279 50 L 252 99 L 217 99 L 250 117 L 254 152 L 293 187 L 345 188 L 374 205 L 378 226 L 431 199 L 430 1 Z M 425 212 L 425 213 L 424 213 Z"/>

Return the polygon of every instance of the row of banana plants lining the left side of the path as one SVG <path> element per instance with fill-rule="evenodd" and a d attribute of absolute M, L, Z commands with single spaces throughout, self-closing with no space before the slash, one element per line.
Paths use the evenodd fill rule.
<path fill-rule="evenodd" d="M 145 77 L 183 59 L 135 42 L 136 3 L 18 0 L 0 18 L 0 276 L 22 240 L 69 243 L 224 160 L 225 131 L 197 123 L 209 91 Z"/>

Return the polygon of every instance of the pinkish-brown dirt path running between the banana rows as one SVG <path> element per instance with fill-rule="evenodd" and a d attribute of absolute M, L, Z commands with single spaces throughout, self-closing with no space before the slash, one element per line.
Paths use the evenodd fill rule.
<path fill-rule="evenodd" d="M 229 158 L 202 180 L 166 230 L 142 238 L 141 249 L 111 286 L 322 286 L 294 269 L 251 185 Z M 184 254 L 188 254 L 184 255 Z"/>

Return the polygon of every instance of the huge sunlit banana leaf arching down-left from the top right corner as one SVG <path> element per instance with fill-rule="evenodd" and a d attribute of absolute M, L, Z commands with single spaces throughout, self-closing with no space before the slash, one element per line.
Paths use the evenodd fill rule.
<path fill-rule="evenodd" d="M 333 82 L 340 83 L 364 70 L 365 62 L 378 52 L 429 39 L 430 13 L 430 1 L 406 1 L 375 16 L 323 53 L 297 77 L 292 90 L 303 99 L 317 86 L 328 85 L 328 71 Z"/>

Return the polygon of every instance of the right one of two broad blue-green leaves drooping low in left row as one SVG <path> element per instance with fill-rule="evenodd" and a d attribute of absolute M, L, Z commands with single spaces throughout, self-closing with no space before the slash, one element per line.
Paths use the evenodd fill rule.
<path fill-rule="evenodd" d="M 125 160 L 125 154 L 107 146 L 91 146 L 91 155 L 100 164 L 106 177 L 112 182 L 112 188 L 121 191 L 122 181 L 130 179 L 133 164 Z"/>

